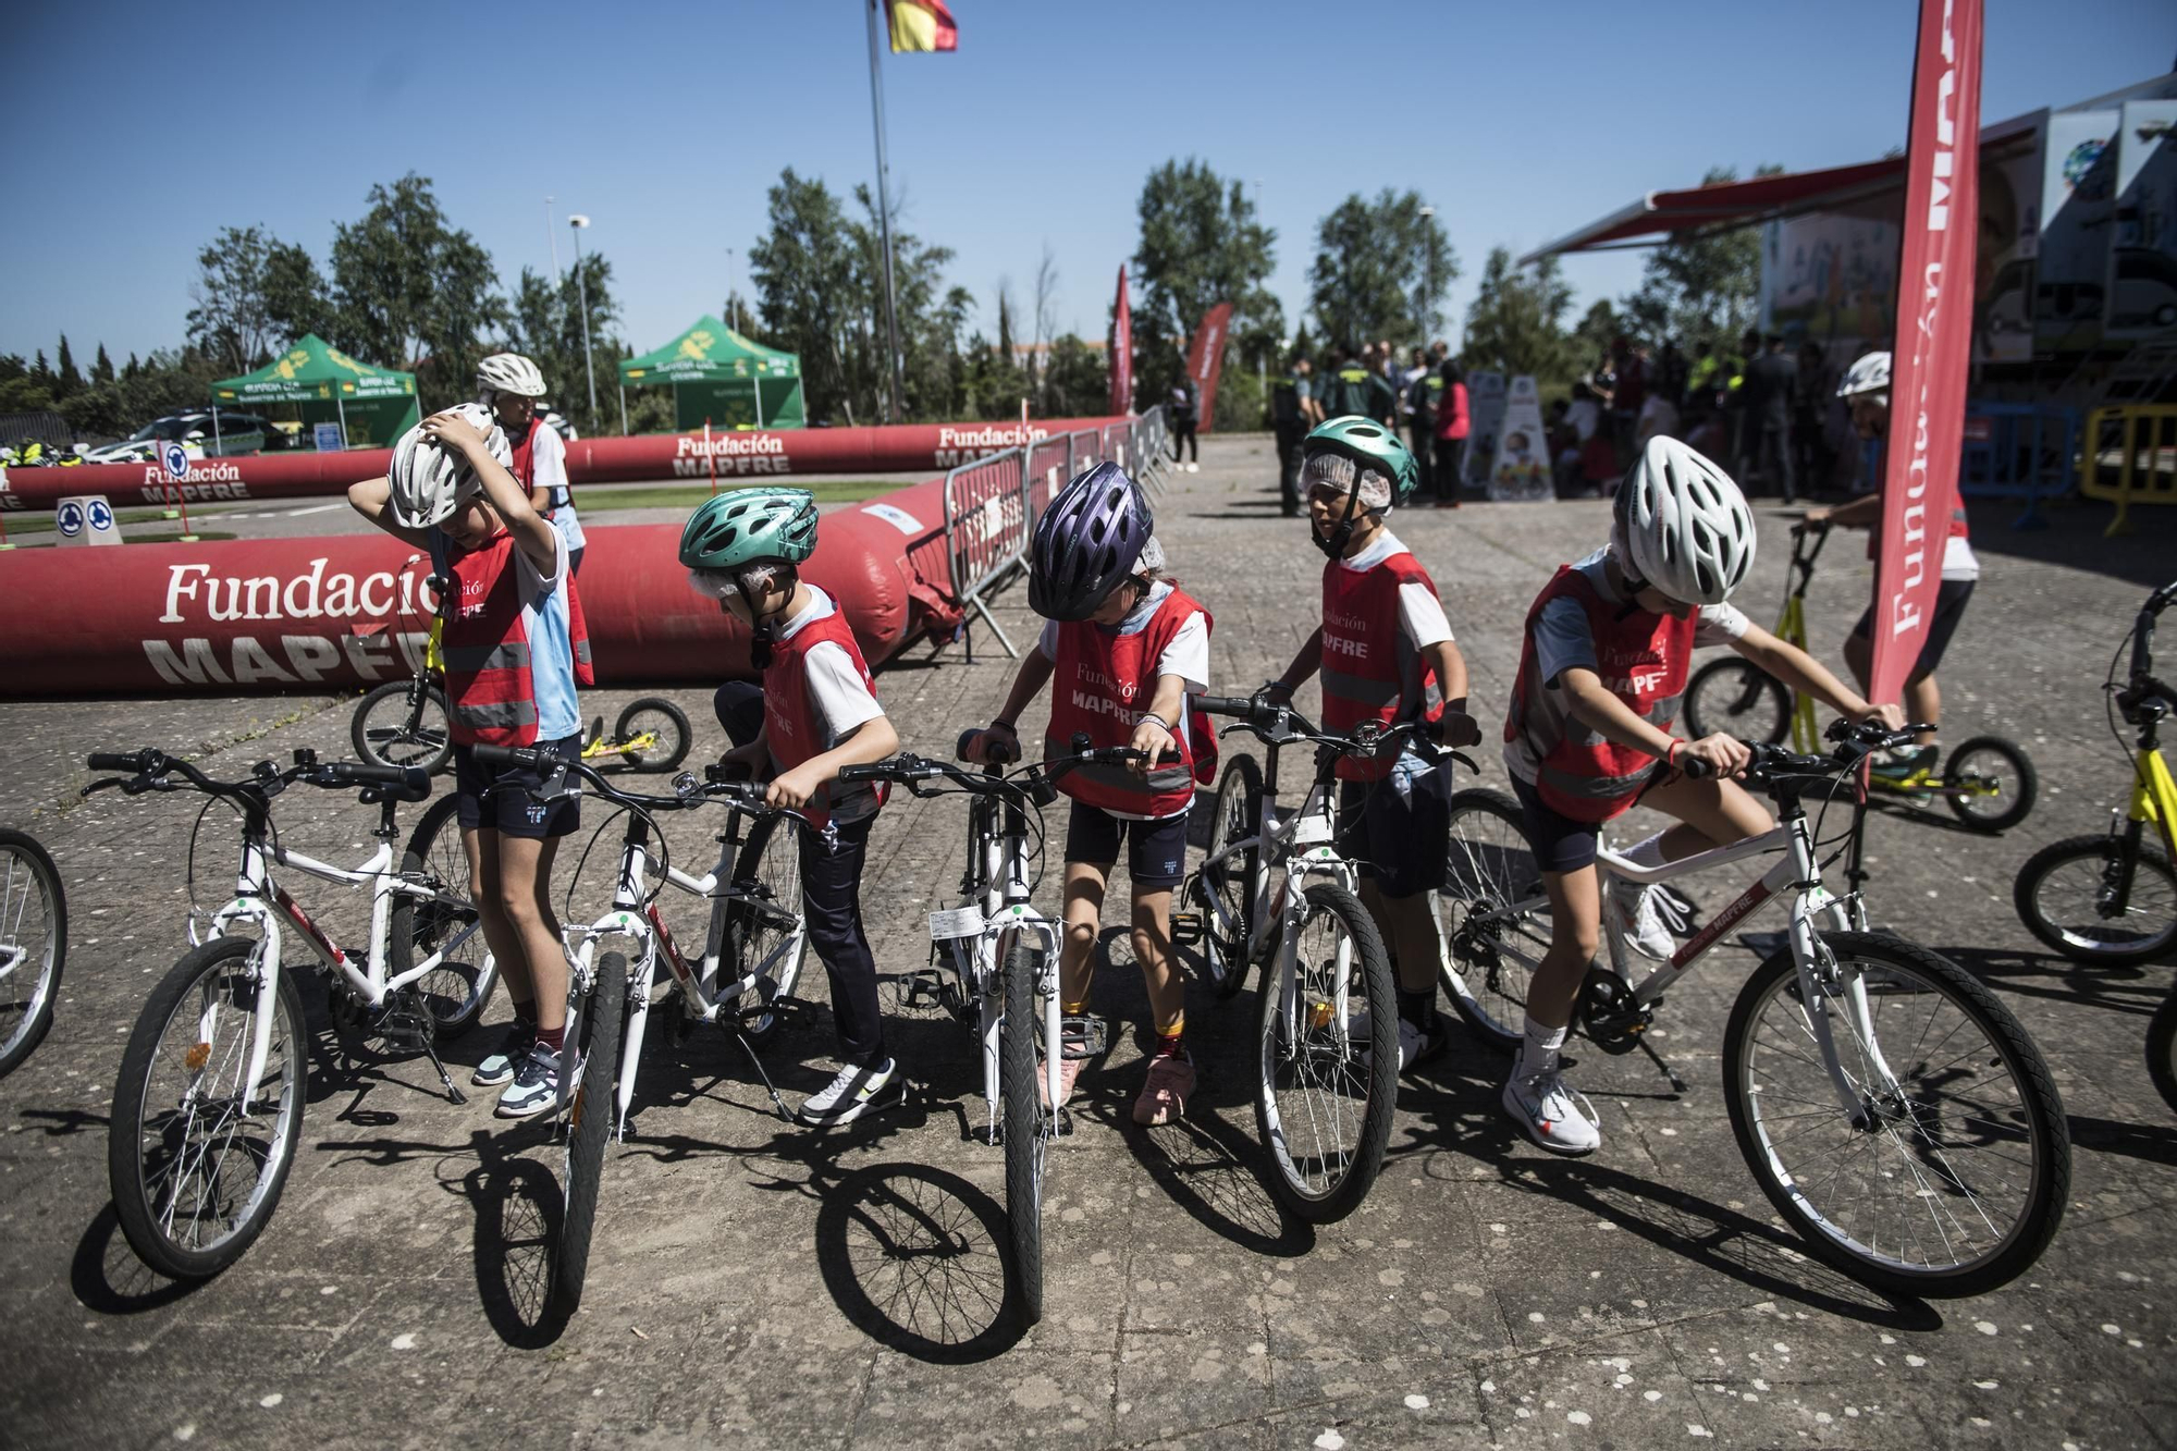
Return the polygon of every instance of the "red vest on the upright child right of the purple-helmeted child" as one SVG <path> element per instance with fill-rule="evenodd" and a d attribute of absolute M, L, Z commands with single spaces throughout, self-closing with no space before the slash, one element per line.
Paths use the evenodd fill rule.
<path fill-rule="evenodd" d="M 1441 719 L 1437 671 L 1398 627 L 1398 590 L 1437 582 L 1404 549 L 1374 569 L 1324 564 L 1324 730 L 1350 734 L 1361 721 Z M 1382 780 L 1395 758 L 1339 760 L 1339 780 Z"/>

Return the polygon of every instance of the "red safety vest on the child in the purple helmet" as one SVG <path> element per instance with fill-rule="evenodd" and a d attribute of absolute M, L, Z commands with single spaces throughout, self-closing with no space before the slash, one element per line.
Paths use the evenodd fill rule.
<path fill-rule="evenodd" d="M 1134 634 L 1121 634 L 1088 621 L 1058 625 L 1058 660 L 1051 667 L 1051 723 L 1043 736 L 1045 756 L 1071 756 L 1073 736 L 1088 732 L 1095 749 L 1130 745 L 1149 697 L 1156 695 L 1156 664 L 1178 638 L 1186 617 L 1202 614 L 1202 627 L 1213 627 L 1210 612 L 1180 590 L 1165 595 L 1149 623 Z M 1186 704 L 1180 706 L 1186 710 Z M 1217 778 L 1217 732 L 1200 710 L 1186 730 L 1173 721 L 1180 758 L 1152 765 L 1147 776 L 1128 767 L 1073 767 L 1058 778 L 1058 789 L 1084 806 L 1123 810 L 1132 817 L 1173 817 L 1195 800 L 1195 782 Z"/>

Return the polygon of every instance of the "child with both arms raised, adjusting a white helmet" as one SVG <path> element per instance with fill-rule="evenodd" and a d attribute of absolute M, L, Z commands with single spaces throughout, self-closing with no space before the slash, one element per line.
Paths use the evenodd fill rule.
<path fill-rule="evenodd" d="M 531 1118 L 559 1100 L 566 950 L 549 882 L 559 839 L 581 826 L 581 804 L 533 800 L 540 773 L 481 765 L 475 747 L 531 745 L 573 760 L 581 752 L 575 686 L 590 684 L 590 636 L 566 540 L 531 508 L 509 458 L 492 416 L 462 403 L 403 434 L 392 473 L 355 484 L 348 503 L 427 549 L 459 590 L 442 643 L 453 789 L 470 900 L 514 1002 L 505 1041 L 472 1083 L 505 1085 L 499 1118 Z"/>

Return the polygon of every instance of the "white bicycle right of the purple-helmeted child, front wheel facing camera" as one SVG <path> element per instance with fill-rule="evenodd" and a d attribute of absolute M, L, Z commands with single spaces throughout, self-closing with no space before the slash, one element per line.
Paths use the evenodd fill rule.
<path fill-rule="evenodd" d="M 1269 771 L 1247 754 L 1226 765 L 1206 856 L 1184 887 L 1197 911 L 1173 913 L 1173 941 L 1200 943 L 1219 998 L 1234 996 L 1254 963 L 1265 965 L 1256 993 L 1256 1131 L 1278 1168 L 1278 1198 L 1295 1216 L 1328 1224 L 1358 1209 L 1376 1183 L 1398 1100 L 1398 1052 L 1369 1052 L 1378 1024 L 1398 1022 L 1398 989 L 1391 954 L 1361 904 L 1361 871 L 1335 845 L 1337 763 L 1395 756 L 1415 726 L 1385 730 L 1365 721 L 1341 736 L 1260 695 L 1197 695 L 1193 706 L 1258 739 Z M 1280 815 L 1278 758 L 1293 745 L 1317 747 L 1315 776 L 1300 810 Z M 1448 756 L 1474 767 L 1456 752 Z M 1367 1033 L 1356 1031 L 1363 1015 Z"/>

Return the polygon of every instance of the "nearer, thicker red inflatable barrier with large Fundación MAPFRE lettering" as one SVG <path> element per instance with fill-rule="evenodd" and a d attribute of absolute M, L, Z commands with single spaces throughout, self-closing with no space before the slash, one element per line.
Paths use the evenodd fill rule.
<path fill-rule="evenodd" d="M 76 473 L 74 468 L 70 473 Z M 805 577 L 869 660 L 945 636 L 943 479 L 825 514 Z M 716 682 L 749 636 L 688 588 L 677 525 L 588 529 L 581 603 L 599 682 Z M 329 691 L 416 669 L 429 560 L 383 534 L 0 556 L 0 697 Z"/>

